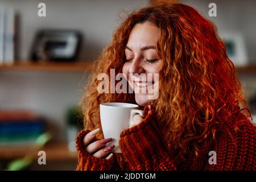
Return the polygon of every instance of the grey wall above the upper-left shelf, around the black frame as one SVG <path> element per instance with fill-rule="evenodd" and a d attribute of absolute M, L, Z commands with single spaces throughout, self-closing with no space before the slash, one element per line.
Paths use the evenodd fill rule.
<path fill-rule="evenodd" d="M 45 18 L 38 16 L 40 2 L 46 3 Z M 22 60 L 28 59 L 35 32 L 41 28 L 80 30 L 85 36 L 80 59 L 91 60 L 109 42 L 114 28 L 120 22 L 119 15 L 147 4 L 146 0 L 0 1 L 0 7 L 13 7 L 20 15 L 18 58 Z"/>

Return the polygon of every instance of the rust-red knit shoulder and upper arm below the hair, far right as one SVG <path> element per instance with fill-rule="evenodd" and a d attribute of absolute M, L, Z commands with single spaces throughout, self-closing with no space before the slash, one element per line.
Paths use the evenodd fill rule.
<path fill-rule="evenodd" d="M 256 127 L 248 119 L 228 122 L 214 143 L 216 164 L 207 170 L 256 170 Z"/>

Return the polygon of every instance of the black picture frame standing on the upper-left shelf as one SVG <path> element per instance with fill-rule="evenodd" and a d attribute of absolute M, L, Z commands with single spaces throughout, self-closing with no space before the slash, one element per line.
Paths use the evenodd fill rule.
<path fill-rule="evenodd" d="M 41 30 L 32 45 L 34 61 L 75 61 L 82 35 L 75 30 Z"/>

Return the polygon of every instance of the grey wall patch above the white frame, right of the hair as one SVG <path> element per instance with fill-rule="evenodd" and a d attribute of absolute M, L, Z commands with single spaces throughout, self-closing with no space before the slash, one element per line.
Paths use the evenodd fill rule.
<path fill-rule="evenodd" d="M 199 10 L 206 18 L 214 22 L 218 32 L 240 32 L 245 37 L 249 63 L 256 64 L 256 1 L 251 0 L 183 0 L 185 3 Z M 209 3 L 216 3 L 217 16 L 209 17 Z"/>

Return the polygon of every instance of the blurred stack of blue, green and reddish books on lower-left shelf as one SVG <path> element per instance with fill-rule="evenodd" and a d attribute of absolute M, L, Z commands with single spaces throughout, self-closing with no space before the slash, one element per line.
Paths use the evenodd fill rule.
<path fill-rule="evenodd" d="M 27 111 L 0 110 L 0 146 L 35 144 L 46 131 L 46 122 Z"/>

